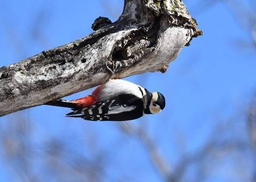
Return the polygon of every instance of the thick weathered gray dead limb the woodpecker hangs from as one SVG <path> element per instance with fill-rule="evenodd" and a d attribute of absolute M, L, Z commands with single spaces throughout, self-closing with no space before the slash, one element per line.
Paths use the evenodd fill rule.
<path fill-rule="evenodd" d="M 66 45 L 0 68 L 0 116 L 168 64 L 200 36 L 196 20 L 180 0 L 127 0 L 119 19 Z"/>

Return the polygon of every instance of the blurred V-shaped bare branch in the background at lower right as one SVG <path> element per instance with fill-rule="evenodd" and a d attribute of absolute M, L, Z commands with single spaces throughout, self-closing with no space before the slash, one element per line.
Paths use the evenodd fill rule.
<path fill-rule="evenodd" d="M 207 137 L 205 143 L 196 151 L 187 152 L 185 148 L 181 148 L 178 162 L 167 160 L 161 152 L 161 148 L 157 146 L 157 141 L 153 140 L 145 127 L 134 126 L 131 123 L 121 123 L 118 126 L 124 133 L 139 139 L 141 144 L 145 146 L 148 159 L 163 181 L 205 181 L 210 176 L 214 176 L 216 171 L 226 171 L 225 166 L 230 159 L 235 160 L 238 167 L 232 170 L 230 168 L 229 172 L 223 172 L 222 178 L 230 181 L 234 179 L 246 181 L 246 172 L 242 171 L 240 166 L 250 165 L 250 162 L 242 157 L 244 153 L 250 153 L 251 148 L 248 145 L 250 141 L 246 140 L 246 137 L 227 137 L 237 130 L 237 126 L 234 125 L 237 122 L 235 118 L 226 122 L 223 121 L 225 125 L 217 125 L 212 128 L 211 134 Z M 173 132 L 175 133 L 175 131 Z M 241 136 L 239 131 L 237 132 L 237 136 Z M 177 143 L 182 142 L 179 137 L 173 138 L 173 140 L 177 140 Z M 190 174 L 191 167 L 195 168 L 194 175 Z"/>

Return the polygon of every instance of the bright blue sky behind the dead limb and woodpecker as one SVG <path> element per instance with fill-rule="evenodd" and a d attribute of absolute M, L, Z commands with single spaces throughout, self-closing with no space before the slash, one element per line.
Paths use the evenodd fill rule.
<path fill-rule="evenodd" d="M 242 12 L 242 6 L 233 8 L 221 1 L 203 1 L 201 5 L 199 1 L 183 2 L 204 34 L 181 50 L 167 73 L 125 78 L 150 91 L 159 91 L 166 98 L 166 107 L 161 113 L 127 124 L 147 131 L 157 152 L 173 171 L 182 158 L 195 156 L 195 162 L 188 165 L 180 181 L 196 179 L 198 175 L 203 176 L 202 181 L 252 181 L 255 164 L 246 111 L 256 90 L 256 48 L 246 13 Z M 248 8 L 254 6 L 255 10 L 252 1 L 241 2 Z M 90 3 L 27 0 L 1 4 L 0 67 L 82 38 L 93 32 L 91 24 L 96 18 L 106 16 L 116 21 L 123 10 L 123 1 L 114 0 Z M 236 13 L 238 16 L 234 16 Z M 81 98 L 91 92 L 86 90 L 67 99 Z M 69 151 L 87 159 L 104 153 L 102 161 L 106 169 L 100 181 L 164 181 L 143 142 L 136 135 L 122 132 L 123 124 L 66 118 L 67 112 L 67 108 L 39 106 L 0 118 L 1 131 L 14 128 L 23 118 L 31 121 L 34 129 L 29 134 L 29 152 L 35 159 L 30 162 L 37 166 L 35 174 L 39 169 L 47 171 L 41 157 L 49 157 L 44 151 L 51 149 L 43 144 L 55 138 L 57 143 L 65 143 Z M 9 137 L 6 133 L 6 138 Z M 212 151 L 204 153 L 203 159 L 209 162 L 204 169 L 198 168 L 197 154 L 213 138 L 218 145 L 212 145 Z M 237 141 L 244 144 L 243 150 L 233 149 Z M 223 143 L 228 148 L 224 152 L 220 150 Z M 10 157 L 4 149 L 3 145 L 0 148 L 1 179 L 22 181 L 22 172 L 14 167 L 19 161 L 14 157 L 18 155 Z M 67 153 L 66 159 L 73 159 L 73 155 Z M 234 178 L 228 175 L 237 171 L 243 173 Z M 41 179 L 58 181 L 54 172 L 38 174 Z"/>

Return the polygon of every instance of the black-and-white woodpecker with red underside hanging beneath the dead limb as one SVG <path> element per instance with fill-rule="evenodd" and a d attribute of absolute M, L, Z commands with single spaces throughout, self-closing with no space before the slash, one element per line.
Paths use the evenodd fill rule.
<path fill-rule="evenodd" d="M 157 114 L 165 107 L 165 98 L 159 92 L 149 92 L 140 85 L 124 80 L 110 80 L 100 85 L 90 96 L 75 100 L 53 100 L 45 105 L 69 107 L 69 117 L 85 120 L 124 121 Z"/>

